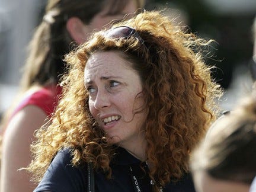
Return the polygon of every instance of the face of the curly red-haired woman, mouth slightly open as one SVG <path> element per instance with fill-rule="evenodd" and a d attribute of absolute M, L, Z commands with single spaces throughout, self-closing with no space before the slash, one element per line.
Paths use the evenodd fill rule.
<path fill-rule="evenodd" d="M 89 110 L 111 143 L 139 142 L 146 112 L 142 110 L 142 82 L 121 52 L 97 52 L 85 67 Z M 136 113 L 138 112 L 139 113 Z"/>

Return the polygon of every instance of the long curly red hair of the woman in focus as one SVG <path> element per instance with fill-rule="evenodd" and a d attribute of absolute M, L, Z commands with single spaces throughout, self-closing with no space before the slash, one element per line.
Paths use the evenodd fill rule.
<path fill-rule="evenodd" d="M 190 152 L 204 136 L 217 113 L 216 98 L 222 91 L 210 76 L 200 47 L 210 41 L 199 39 L 158 11 L 145 11 L 114 27 L 136 28 L 145 41 L 136 37 L 111 39 L 105 31 L 66 56 L 69 73 L 63 78 L 63 95 L 47 129 L 36 133 L 34 161 L 28 169 L 37 181 L 56 152 L 73 148 L 73 164 L 93 162 L 95 169 L 111 175 L 109 166 L 114 148 L 97 128 L 88 107 L 84 87 L 84 68 L 97 51 L 118 50 L 133 63 L 143 83 L 148 117 L 145 135 L 146 154 L 151 162 L 151 177 L 160 185 L 179 180 L 188 171 Z"/>

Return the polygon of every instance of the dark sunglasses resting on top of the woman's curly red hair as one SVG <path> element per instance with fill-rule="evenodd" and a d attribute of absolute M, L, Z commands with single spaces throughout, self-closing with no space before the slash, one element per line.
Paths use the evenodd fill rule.
<path fill-rule="evenodd" d="M 139 36 L 139 33 L 135 30 L 135 28 L 128 27 L 128 26 L 120 26 L 115 27 L 107 31 L 106 36 L 108 38 L 113 39 L 121 39 L 121 38 L 128 38 L 131 36 L 135 36 L 137 40 L 140 41 L 141 44 L 144 43 L 144 40 Z"/>

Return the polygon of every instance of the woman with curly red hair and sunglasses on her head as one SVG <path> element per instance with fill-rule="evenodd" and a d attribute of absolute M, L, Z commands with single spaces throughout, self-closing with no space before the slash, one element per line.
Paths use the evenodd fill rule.
<path fill-rule="evenodd" d="M 35 191 L 86 191 L 92 178 L 96 191 L 194 191 L 190 151 L 221 94 L 193 51 L 209 43 L 145 11 L 71 52 L 52 123 L 36 133 Z"/>

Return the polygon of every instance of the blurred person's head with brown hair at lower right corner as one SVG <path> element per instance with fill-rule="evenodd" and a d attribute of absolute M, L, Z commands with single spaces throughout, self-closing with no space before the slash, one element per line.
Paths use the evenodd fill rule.
<path fill-rule="evenodd" d="M 256 175 L 256 97 L 244 98 L 218 119 L 193 152 L 191 170 L 198 192 L 248 192 Z"/>

